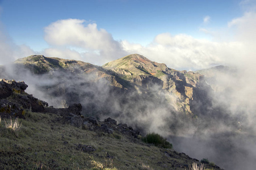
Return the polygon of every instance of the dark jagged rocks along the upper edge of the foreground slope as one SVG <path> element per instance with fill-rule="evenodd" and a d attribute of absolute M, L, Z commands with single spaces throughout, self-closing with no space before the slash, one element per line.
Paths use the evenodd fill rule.
<path fill-rule="evenodd" d="M 104 121 L 98 121 L 94 117 L 83 117 L 81 115 L 82 105 L 75 103 L 68 108 L 53 108 L 48 107 L 48 103 L 36 99 L 32 95 L 28 95 L 25 90 L 27 84 L 24 82 L 16 82 L 15 80 L 0 80 L 0 94 L 3 94 L 0 99 L 0 116 L 3 118 L 15 116 L 23 117 L 26 111 L 41 113 L 52 113 L 62 116 L 60 121 L 63 124 L 70 124 L 76 128 L 87 130 L 102 131 L 103 133 L 112 134 L 118 131 L 122 134 L 137 138 L 140 132 L 127 127 L 126 124 L 118 124 L 112 118 L 106 118 Z M 87 146 L 79 147 L 84 151 L 91 149 Z"/>

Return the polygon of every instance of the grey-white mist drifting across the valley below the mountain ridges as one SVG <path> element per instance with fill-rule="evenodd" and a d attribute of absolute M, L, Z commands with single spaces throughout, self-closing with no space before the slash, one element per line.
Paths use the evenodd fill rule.
<path fill-rule="evenodd" d="M 81 103 L 85 116 L 99 120 L 112 117 L 144 135 L 159 133 L 173 143 L 175 150 L 192 158 L 208 158 L 225 169 L 254 167 L 256 100 L 252 84 L 255 82 L 248 70 L 232 67 L 217 71 L 210 78 L 205 76 L 208 83 L 205 91 L 209 87 L 213 90 L 204 97 L 208 105 L 203 107 L 203 101 L 193 104 L 192 111 L 198 116 L 193 119 L 179 113 L 175 102 L 166 99 L 168 95 L 168 99 L 175 96 L 162 90 L 161 82 L 142 83 L 138 93 L 129 82 L 126 82 L 129 88 L 110 86 L 110 77 L 101 77 L 97 71 L 85 74 L 79 67 L 47 74 L 31 73 L 21 65 L 6 65 L 1 69 L 1 78 L 24 80 L 28 94 L 54 107 Z"/>

